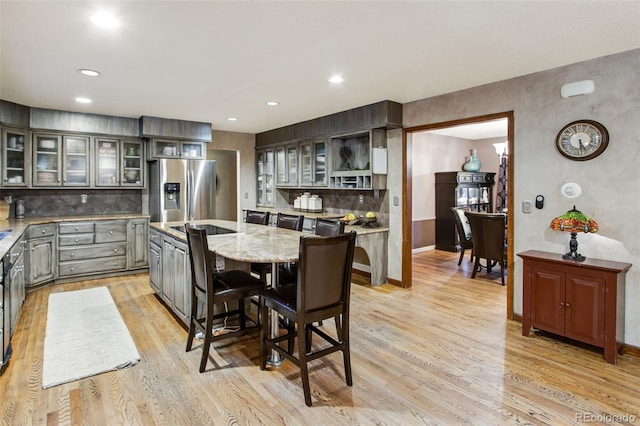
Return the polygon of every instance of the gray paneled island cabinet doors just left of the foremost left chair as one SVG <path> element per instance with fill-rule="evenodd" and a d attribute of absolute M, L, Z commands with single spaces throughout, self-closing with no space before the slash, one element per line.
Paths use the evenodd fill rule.
<path fill-rule="evenodd" d="M 160 296 L 171 310 L 188 323 L 191 307 L 191 265 L 187 244 L 168 235 L 162 242 L 162 290 Z"/>

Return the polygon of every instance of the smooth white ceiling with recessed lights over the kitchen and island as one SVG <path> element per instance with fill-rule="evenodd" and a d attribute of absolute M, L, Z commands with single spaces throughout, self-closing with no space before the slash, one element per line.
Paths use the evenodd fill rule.
<path fill-rule="evenodd" d="M 1 0 L 0 19 L 2 99 L 249 133 L 640 47 L 637 0 Z"/>

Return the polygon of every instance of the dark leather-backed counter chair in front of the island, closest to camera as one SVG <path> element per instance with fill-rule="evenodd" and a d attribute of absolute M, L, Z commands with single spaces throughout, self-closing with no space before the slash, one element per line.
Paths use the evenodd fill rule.
<path fill-rule="evenodd" d="M 311 406 L 311 391 L 307 364 L 317 358 L 342 351 L 345 380 L 353 384 L 349 343 L 349 296 L 351 268 L 356 233 L 336 237 L 300 237 L 298 276 L 295 283 L 266 289 L 260 296 L 260 312 L 268 318 L 273 310 L 291 321 L 295 327 L 287 328 L 280 336 L 269 335 L 268 321 L 260 328 L 260 369 L 267 365 L 267 356 L 275 350 L 300 368 L 304 400 Z M 334 318 L 336 336 L 313 325 L 323 319 Z M 307 344 L 313 333 L 323 339 L 320 348 L 312 351 Z M 280 344 L 297 338 L 297 355 Z M 327 346 L 328 345 L 328 346 Z"/>

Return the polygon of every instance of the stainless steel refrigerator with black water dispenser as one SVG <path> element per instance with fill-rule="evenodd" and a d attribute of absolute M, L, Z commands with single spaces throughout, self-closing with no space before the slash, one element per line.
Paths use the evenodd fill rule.
<path fill-rule="evenodd" d="M 216 162 L 161 159 L 149 163 L 152 222 L 216 218 Z"/>

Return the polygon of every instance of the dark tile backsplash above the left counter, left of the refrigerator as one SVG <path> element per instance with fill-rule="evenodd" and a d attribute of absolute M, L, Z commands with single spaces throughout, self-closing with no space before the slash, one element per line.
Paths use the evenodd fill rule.
<path fill-rule="evenodd" d="M 84 216 L 142 213 L 139 189 L 3 189 L 0 197 L 13 198 L 9 217 L 15 217 L 15 200 L 23 200 L 25 217 Z M 83 203 L 86 195 L 86 203 Z"/>

